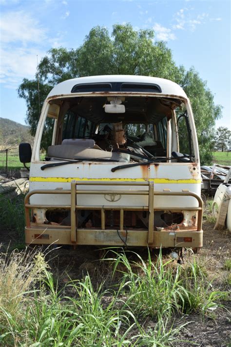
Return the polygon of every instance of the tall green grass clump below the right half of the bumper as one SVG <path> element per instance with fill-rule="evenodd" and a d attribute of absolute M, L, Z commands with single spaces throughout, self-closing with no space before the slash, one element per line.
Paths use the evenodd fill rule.
<path fill-rule="evenodd" d="M 152 262 L 150 252 L 145 262 L 138 254 L 137 261 L 129 262 L 122 252 L 114 259 L 124 265 L 123 283 L 127 293 L 127 306 L 143 318 L 155 319 L 171 317 L 174 312 L 191 313 L 217 307 L 217 302 L 225 293 L 215 291 L 206 275 L 194 260 L 188 265 L 171 266 L 173 260 L 163 262 L 161 250 L 156 263 Z M 119 270 L 121 271 L 121 269 Z"/>

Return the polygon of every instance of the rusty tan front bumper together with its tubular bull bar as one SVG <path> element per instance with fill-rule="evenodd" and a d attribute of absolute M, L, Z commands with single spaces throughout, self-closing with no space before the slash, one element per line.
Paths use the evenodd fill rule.
<path fill-rule="evenodd" d="M 77 189 L 77 182 L 72 181 L 70 190 L 33 190 L 25 197 L 25 241 L 26 244 L 38 245 L 108 245 L 108 246 L 149 246 L 149 247 L 202 247 L 203 231 L 202 231 L 202 213 L 203 202 L 201 198 L 190 191 L 155 191 L 154 182 L 147 181 L 142 183 L 118 183 L 116 185 L 144 185 L 148 186 L 148 190 L 115 190 L 115 184 L 112 182 L 99 182 L 99 183 L 84 183 L 89 185 L 89 189 Z M 109 185 L 113 186 L 114 190 L 94 190 L 91 185 Z M 118 189 L 118 187 L 116 187 Z M 70 205 L 36 205 L 29 204 L 30 196 L 34 194 L 69 194 Z M 105 210 L 112 209 L 112 206 L 80 206 L 77 204 L 78 194 L 124 194 L 124 195 L 148 195 L 148 204 L 146 206 L 121 206 L 114 205 L 114 210 L 120 211 L 120 224 L 119 229 L 105 228 Z M 169 209 L 168 207 L 154 206 L 154 196 L 191 196 L 198 202 L 198 207 L 182 206 L 174 208 L 174 210 L 189 210 L 198 213 L 197 226 L 193 229 L 177 229 L 173 230 L 171 227 L 164 228 L 161 231 L 154 230 L 154 212 L 157 210 Z M 64 208 L 69 209 L 71 214 L 71 226 L 61 225 L 41 225 L 31 223 L 30 209 L 31 208 Z M 101 211 L 101 228 L 77 228 L 77 214 L 78 209 L 98 209 Z M 125 210 L 139 210 L 148 211 L 149 223 L 148 229 L 128 229 L 124 228 L 124 211 Z"/>

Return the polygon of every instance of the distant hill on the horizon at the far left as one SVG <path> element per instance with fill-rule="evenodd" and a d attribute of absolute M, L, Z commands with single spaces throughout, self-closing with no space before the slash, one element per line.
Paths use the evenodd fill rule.
<path fill-rule="evenodd" d="M 11 121 L 7 118 L 0 118 L 0 147 L 16 147 L 21 142 L 33 143 L 29 127 Z"/>

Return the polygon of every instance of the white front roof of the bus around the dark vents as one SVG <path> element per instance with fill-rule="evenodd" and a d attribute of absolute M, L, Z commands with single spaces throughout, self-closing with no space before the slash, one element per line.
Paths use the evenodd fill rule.
<path fill-rule="evenodd" d="M 48 94 L 47 98 L 71 94 L 72 88 L 77 84 L 87 83 L 103 83 L 103 82 L 120 82 L 120 83 L 147 83 L 155 84 L 160 87 L 159 94 L 179 96 L 187 98 L 184 90 L 175 82 L 150 76 L 133 76 L 133 75 L 105 75 L 105 76 L 89 76 L 79 77 L 58 83 Z"/>

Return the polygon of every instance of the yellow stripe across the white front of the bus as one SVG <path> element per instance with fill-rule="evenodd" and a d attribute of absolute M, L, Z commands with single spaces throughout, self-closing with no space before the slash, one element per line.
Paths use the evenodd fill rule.
<path fill-rule="evenodd" d="M 30 177 L 31 182 L 71 182 L 73 180 L 81 181 L 81 182 L 147 182 L 153 181 L 154 183 L 174 183 L 174 184 L 182 184 L 182 183 L 201 183 L 201 180 L 171 180 L 167 178 L 79 178 L 79 177 Z"/>

